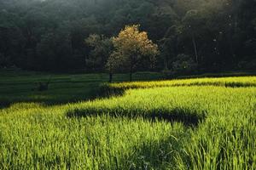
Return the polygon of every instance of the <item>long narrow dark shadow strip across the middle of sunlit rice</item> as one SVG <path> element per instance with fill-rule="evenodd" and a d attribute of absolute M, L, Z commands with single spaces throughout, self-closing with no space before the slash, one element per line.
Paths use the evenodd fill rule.
<path fill-rule="evenodd" d="M 97 108 L 84 108 L 84 109 L 75 109 L 72 111 L 67 111 L 66 116 L 68 118 L 79 118 L 86 116 L 103 116 L 108 115 L 115 117 L 128 117 L 135 119 L 138 117 L 143 117 L 152 122 L 166 121 L 166 122 L 183 122 L 187 126 L 197 126 L 199 122 L 202 122 L 206 117 L 206 111 L 202 113 L 197 113 L 196 111 L 191 111 L 186 108 L 174 108 L 171 111 L 143 111 L 137 110 L 120 110 L 119 108 L 115 109 L 97 109 Z"/>

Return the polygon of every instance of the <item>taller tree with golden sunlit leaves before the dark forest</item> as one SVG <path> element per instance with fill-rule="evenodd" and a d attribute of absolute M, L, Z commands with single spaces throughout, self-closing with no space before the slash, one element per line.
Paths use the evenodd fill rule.
<path fill-rule="evenodd" d="M 136 71 L 140 61 L 148 59 L 153 67 L 156 55 L 159 54 L 158 46 L 148 39 L 145 31 L 139 31 L 139 25 L 125 26 L 125 30 L 119 32 L 118 37 L 113 37 L 113 54 L 108 58 L 108 71 L 116 71 L 119 68 L 132 73 Z M 111 69 L 110 69 L 111 68 Z"/>

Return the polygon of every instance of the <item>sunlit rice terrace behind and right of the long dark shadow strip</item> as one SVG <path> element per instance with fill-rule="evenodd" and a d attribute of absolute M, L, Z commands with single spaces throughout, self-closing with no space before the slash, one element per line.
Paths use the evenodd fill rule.
<path fill-rule="evenodd" d="M 68 113 L 77 116 L 93 113 L 114 117 L 154 116 L 192 124 L 198 118 L 201 122 L 198 127 L 188 127 L 190 137 L 183 144 L 187 156 L 180 152 L 172 167 L 256 168 L 256 88 L 195 86 L 132 89 L 122 97 L 81 103 L 74 105 L 72 110 Z"/>

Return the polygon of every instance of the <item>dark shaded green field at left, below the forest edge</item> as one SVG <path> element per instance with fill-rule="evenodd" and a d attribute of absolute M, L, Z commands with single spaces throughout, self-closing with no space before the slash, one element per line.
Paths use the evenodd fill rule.
<path fill-rule="evenodd" d="M 135 80 L 160 79 L 160 73 L 140 72 Z M 38 82 L 49 82 L 49 90 L 38 91 Z M 114 82 L 128 81 L 125 74 L 114 75 Z M 108 82 L 107 74 L 45 74 L 28 71 L 0 71 L 0 107 L 17 102 L 65 104 L 102 96 L 99 86 Z"/>

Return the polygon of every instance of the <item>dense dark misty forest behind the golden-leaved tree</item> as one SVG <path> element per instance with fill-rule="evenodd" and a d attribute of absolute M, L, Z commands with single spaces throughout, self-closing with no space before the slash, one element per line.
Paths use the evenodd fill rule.
<path fill-rule="evenodd" d="M 160 53 L 137 71 L 256 69 L 255 0 L 0 0 L 0 68 L 106 71 L 125 26 Z"/>

